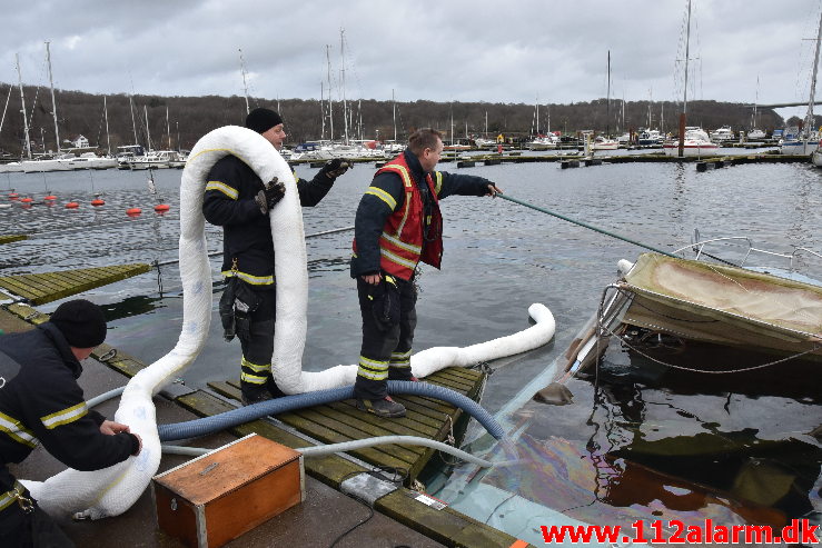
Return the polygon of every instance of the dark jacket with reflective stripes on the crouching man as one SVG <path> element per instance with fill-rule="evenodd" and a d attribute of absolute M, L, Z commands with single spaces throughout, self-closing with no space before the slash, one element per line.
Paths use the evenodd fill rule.
<path fill-rule="evenodd" d="M 83 471 L 116 465 L 137 450 L 135 436 L 100 431 L 105 418 L 87 409 L 77 383 L 82 366 L 55 326 L 0 336 L 0 369 L 8 371 L 10 361 L 20 366 L 0 388 L 0 492 L 13 486 L 6 465 L 22 461 L 38 444 Z"/>

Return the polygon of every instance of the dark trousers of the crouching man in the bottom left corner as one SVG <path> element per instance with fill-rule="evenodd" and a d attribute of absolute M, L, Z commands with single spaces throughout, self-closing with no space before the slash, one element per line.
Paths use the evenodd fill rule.
<path fill-rule="evenodd" d="M 28 491 L 26 497 L 31 499 Z M 52 519 L 37 506 L 30 511 L 13 501 L 0 510 L 0 546 L 3 548 L 30 548 L 34 546 L 48 546 L 50 548 L 75 548 L 75 544 L 52 521 Z"/>

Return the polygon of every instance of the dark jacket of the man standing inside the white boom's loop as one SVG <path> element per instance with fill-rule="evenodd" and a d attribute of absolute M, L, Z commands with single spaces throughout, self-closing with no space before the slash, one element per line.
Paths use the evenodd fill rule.
<path fill-rule="evenodd" d="M 316 206 L 334 185 L 321 172 L 309 182 L 297 180 L 303 206 Z M 267 215 L 254 198 L 263 190 L 263 181 L 254 170 L 235 156 L 214 165 L 208 173 L 202 213 L 211 225 L 222 227 L 222 276 L 238 276 L 258 287 L 274 287 L 274 240 Z"/>

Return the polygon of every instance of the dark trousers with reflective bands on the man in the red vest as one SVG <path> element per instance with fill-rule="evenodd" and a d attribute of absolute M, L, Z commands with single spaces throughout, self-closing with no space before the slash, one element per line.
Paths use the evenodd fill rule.
<path fill-rule="evenodd" d="M 410 380 L 410 353 L 414 328 L 417 327 L 417 290 L 413 281 L 397 281 L 399 289 L 399 323 L 380 329 L 372 311 L 368 296 L 374 286 L 357 278 L 359 311 L 363 316 L 363 345 L 359 368 L 354 383 L 354 396 L 363 399 L 383 399 L 388 396 L 386 380 Z"/>

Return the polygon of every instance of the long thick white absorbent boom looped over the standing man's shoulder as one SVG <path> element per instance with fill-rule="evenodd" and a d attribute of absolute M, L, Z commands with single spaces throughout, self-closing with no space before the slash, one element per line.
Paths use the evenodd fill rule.
<path fill-rule="evenodd" d="M 293 171 L 277 150 L 255 131 L 232 126 L 210 131 L 192 148 L 180 185 L 180 336 L 174 349 L 131 378 L 115 415 L 116 421 L 128 425 L 142 438 L 142 450 L 137 457 L 102 470 L 68 469 L 44 482 L 22 480 L 39 506 L 58 519 L 72 515 L 99 519 L 122 514 L 142 495 L 160 466 L 157 410 L 151 397 L 181 376 L 200 353 L 208 337 L 212 295 L 202 200 L 211 167 L 228 155 L 246 162 L 263 181 L 277 177 L 286 186 L 285 197 L 269 215 L 277 257 L 277 319 L 271 357 L 277 385 L 286 393 L 301 393 L 354 383 L 357 366 L 303 371 L 308 276 L 303 213 Z M 556 327 L 551 311 L 542 305 L 532 305 L 529 312 L 537 321 L 535 326 L 466 349 L 425 350 L 412 357 L 412 371 L 416 377 L 425 377 L 450 365 L 511 356 L 548 342 Z"/>

